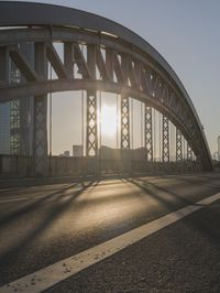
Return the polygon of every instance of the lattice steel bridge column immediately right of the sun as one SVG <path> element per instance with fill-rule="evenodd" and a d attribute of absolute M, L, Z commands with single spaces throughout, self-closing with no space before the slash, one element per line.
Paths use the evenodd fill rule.
<path fill-rule="evenodd" d="M 121 97 L 121 149 L 130 150 L 130 105 L 129 97 Z"/>

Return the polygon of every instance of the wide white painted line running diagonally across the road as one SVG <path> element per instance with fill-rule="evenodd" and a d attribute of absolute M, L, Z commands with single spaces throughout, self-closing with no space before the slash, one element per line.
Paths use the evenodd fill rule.
<path fill-rule="evenodd" d="M 220 199 L 220 193 L 8 283 L 0 287 L 0 293 L 42 292 L 218 199 Z"/>

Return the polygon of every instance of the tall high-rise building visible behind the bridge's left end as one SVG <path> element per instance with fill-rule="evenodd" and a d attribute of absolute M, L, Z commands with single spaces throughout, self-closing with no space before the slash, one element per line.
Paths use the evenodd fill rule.
<path fill-rule="evenodd" d="M 34 66 L 34 45 L 20 44 L 20 51 Z M 9 83 L 24 82 L 15 64 L 9 61 Z M 23 97 L 0 104 L 0 153 L 32 154 L 33 144 L 33 97 Z"/>

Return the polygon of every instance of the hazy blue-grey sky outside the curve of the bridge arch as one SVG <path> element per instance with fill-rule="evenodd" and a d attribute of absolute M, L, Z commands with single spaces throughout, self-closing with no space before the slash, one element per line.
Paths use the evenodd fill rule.
<path fill-rule="evenodd" d="M 211 153 L 217 151 L 217 137 L 220 135 L 219 0 L 32 2 L 62 4 L 97 13 L 123 24 L 152 44 L 183 82 L 204 124 Z M 68 108 L 66 106 L 66 110 Z M 59 126 L 62 128 L 62 123 Z"/>

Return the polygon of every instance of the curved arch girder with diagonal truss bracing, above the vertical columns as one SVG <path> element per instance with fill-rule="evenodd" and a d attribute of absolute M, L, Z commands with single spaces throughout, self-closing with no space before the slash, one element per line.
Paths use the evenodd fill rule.
<path fill-rule="evenodd" d="M 6 9 L 6 6 L 2 7 Z M 48 7 L 53 10 L 53 6 Z M 80 14 L 79 11 L 77 13 Z M 97 15 L 96 18 L 105 23 L 103 19 Z M 202 127 L 186 90 L 168 64 L 146 42 L 140 46 L 143 40 L 139 40 L 133 33 L 129 42 L 127 29 L 119 24 L 117 25 L 120 30 L 116 29 L 116 34 L 112 31 L 106 34 L 101 29 L 96 31 L 94 28 L 84 30 L 66 25 L 53 28 L 53 23 L 29 24 L 26 29 L 0 31 L 0 59 L 3 64 L 0 73 L 7 70 L 6 64 L 11 58 L 26 80 L 10 85 L 6 74 L 0 74 L 0 101 L 80 89 L 87 93 L 103 90 L 120 94 L 122 97 L 135 97 L 172 120 L 190 142 L 190 150 L 200 158 L 204 170 L 211 169 Z M 89 29 L 88 23 L 86 28 Z M 123 30 L 127 33 L 124 37 L 121 34 Z M 48 75 L 42 74 L 37 69 L 37 59 L 35 68 L 30 66 L 19 48 L 20 43 L 29 42 L 34 43 L 35 48 L 38 44 L 43 45 L 43 63 L 52 65 L 57 78 L 50 80 Z M 55 48 L 57 42 L 63 45 L 64 61 Z M 82 52 L 82 45 L 86 46 L 87 56 Z M 35 56 L 37 58 L 37 55 Z"/>

